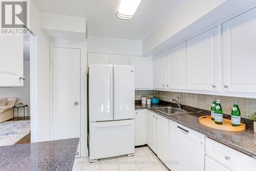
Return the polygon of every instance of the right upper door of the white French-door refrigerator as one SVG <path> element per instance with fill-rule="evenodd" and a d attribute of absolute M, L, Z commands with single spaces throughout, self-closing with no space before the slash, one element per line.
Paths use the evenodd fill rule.
<path fill-rule="evenodd" d="M 134 119 L 134 66 L 114 65 L 114 120 Z"/>

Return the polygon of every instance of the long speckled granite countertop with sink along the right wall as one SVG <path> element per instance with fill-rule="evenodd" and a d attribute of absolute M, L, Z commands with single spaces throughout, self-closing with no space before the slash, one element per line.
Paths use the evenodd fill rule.
<path fill-rule="evenodd" d="M 135 109 L 137 110 L 149 109 L 151 111 L 154 111 L 155 113 L 158 113 L 159 115 L 164 116 L 167 119 L 173 120 L 177 123 L 187 126 L 188 128 L 193 129 L 199 133 L 202 133 L 211 139 L 219 141 L 253 158 L 256 158 L 256 133 L 252 131 L 250 126 L 247 125 L 248 129 L 246 128 L 245 131 L 241 131 L 241 132 L 230 132 L 230 131 L 212 129 L 210 127 L 200 124 L 198 121 L 198 118 L 200 116 L 209 115 L 209 113 L 206 114 L 204 110 L 201 110 L 202 112 L 199 112 L 199 113 L 192 112 L 189 114 L 166 115 L 154 109 L 158 106 L 169 106 L 169 105 L 154 104 L 150 106 L 150 105 L 143 105 L 143 104 L 142 105 L 135 104 Z M 185 110 L 189 112 L 191 111 L 188 109 L 185 109 Z"/>

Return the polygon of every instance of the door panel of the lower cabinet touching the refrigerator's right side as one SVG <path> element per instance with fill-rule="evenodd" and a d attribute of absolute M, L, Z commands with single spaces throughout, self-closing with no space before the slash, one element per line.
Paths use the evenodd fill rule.
<path fill-rule="evenodd" d="M 135 146 L 144 145 L 145 124 L 144 110 L 135 111 Z"/>

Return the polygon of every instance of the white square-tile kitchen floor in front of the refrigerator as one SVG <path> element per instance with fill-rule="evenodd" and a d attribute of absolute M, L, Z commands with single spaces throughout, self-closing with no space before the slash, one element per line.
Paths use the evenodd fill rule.
<path fill-rule="evenodd" d="M 76 171 L 168 171 L 158 157 L 147 146 L 135 148 L 132 157 L 118 156 L 90 163 L 89 158 L 75 160 Z"/>

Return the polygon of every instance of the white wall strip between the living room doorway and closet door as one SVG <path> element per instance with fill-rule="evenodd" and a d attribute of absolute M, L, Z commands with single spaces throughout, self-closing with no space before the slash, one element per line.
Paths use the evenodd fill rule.
<path fill-rule="evenodd" d="M 31 86 L 31 142 L 50 140 L 50 41 L 40 29 L 40 11 L 30 1 L 29 29 L 36 35 L 36 60 L 30 59 L 36 80 Z M 31 56 L 31 58 L 33 58 Z"/>

